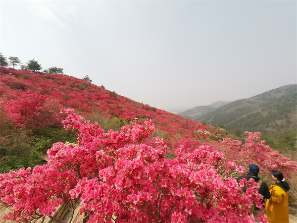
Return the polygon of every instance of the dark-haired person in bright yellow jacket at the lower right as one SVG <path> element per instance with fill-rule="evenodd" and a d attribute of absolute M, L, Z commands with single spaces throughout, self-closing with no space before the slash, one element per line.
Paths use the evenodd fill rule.
<path fill-rule="evenodd" d="M 275 182 L 269 187 L 271 198 L 266 200 L 265 212 L 269 223 L 289 223 L 288 190 L 290 186 L 283 181 L 281 171 L 272 170 L 272 179 Z"/>

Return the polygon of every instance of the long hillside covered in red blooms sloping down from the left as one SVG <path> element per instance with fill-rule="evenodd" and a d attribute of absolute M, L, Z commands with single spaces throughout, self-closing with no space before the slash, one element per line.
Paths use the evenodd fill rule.
<path fill-rule="evenodd" d="M 205 131 L 214 128 L 180 115 L 159 110 L 135 102 L 115 92 L 103 89 L 85 80 L 61 74 L 39 74 L 26 70 L 17 71 L 0 67 L 0 97 L 2 100 L 20 100 L 28 92 L 39 92 L 48 99 L 55 100 L 62 108 L 73 108 L 81 114 L 100 113 L 119 120 L 144 122 L 152 119 L 156 132 L 163 138 L 181 138 L 186 134 L 196 137 L 196 130 Z M 8 75 L 11 73 L 11 75 Z M 200 137 L 208 138 L 206 134 Z"/>

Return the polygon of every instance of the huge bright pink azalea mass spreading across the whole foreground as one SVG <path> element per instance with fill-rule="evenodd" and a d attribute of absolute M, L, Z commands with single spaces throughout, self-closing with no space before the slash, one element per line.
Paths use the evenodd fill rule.
<path fill-rule="evenodd" d="M 168 144 L 149 138 L 152 121 L 104 133 L 73 110 L 63 112 L 77 145 L 55 143 L 47 165 L 0 174 L 0 203 L 12 209 L 3 219 L 48 216 L 63 223 L 53 217 L 56 208 L 77 200 L 89 223 L 254 223 L 250 206 L 262 208 L 259 184 L 238 184 L 231 176 L 245 168 L 218 152 L 218 144 L 178 145 L 176 158 L 165 159 Z M 260 222 L 267 223 L 263 215 Z"/>

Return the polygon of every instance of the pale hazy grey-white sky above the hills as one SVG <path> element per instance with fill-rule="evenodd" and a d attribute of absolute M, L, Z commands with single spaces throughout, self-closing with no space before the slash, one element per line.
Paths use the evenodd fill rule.
<path fill-rule="evenodd" d="M 297 83 L 295 0 L 0 0 L 0 13 L 3 56 L 166 111 Z"/>

